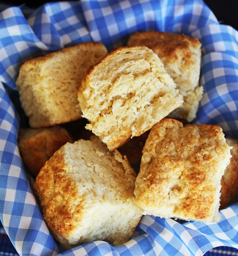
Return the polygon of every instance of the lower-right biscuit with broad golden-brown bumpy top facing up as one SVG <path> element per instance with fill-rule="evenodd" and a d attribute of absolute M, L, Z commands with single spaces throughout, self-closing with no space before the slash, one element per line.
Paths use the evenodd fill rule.
<path fill-rule="evenodd" d="M 165 118 L 145 143 L 136 202 L 154 216 L 217 222 L 220 180 L 230 157 L 221 127 Z"/>

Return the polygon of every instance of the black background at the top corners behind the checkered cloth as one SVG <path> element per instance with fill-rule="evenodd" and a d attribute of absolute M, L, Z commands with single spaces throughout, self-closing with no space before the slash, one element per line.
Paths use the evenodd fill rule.
<path fill-rule="evenodd" d="M 30 8 L 30 10 L 27 8 L 22 10 L 24 14 L 27 15 L 30 11 L 35 10 L 37 7 L 47 2 L 55 1 L 0 1 L 0 11 L 7 7 L 25 4 L 25 6 Z M 230 25 L 238 30 L 238 0 L 204 0 L 204 2 L 210 7 L 221 24 Z"/>

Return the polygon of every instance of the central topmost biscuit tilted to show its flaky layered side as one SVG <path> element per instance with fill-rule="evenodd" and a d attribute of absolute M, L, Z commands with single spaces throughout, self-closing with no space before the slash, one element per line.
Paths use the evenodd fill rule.
<path fill-rule="evenodd" d="M 86 129 L 114 150 L 183 103 L 158 56 L 145 46 L 119 47 L 87 71 L 78 100 Z"/>

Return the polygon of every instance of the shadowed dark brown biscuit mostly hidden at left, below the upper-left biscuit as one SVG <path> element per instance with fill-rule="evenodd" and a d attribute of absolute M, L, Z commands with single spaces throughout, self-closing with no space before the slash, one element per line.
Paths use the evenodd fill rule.
<path fill-rule="evenodd" d="M 60 126 L 19 129 L 18 147 L 28 171 L 37 176 L 42 166 L 61 146 L 73 142 L 68 131 Z"/>

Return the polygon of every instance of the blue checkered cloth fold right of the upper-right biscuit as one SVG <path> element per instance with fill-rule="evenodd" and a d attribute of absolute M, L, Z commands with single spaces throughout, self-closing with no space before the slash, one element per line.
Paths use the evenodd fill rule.
<path fill-rule="evenodd" d="M 238 32 L 211 24 L 192 31 L 202 43 L 201 84 L 204 95 L 195 123 L 222 127 L 226 136 L 238 138 Z"/>

